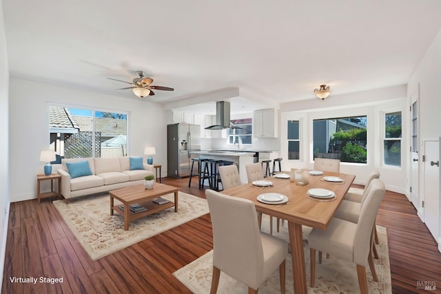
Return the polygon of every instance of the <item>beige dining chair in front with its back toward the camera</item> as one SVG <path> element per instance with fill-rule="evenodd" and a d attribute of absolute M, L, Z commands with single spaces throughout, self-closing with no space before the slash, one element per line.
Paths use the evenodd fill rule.
<path fill-rule="evenodd" d="M 248 293 L 279 269 L 280 292 L 285 293 L 285 240 L 260 232 L 256 207 L 251 200 L 205 190 L 213 227 L 213 277 L 216 293 L 220 271 L 245 284 Z"/>

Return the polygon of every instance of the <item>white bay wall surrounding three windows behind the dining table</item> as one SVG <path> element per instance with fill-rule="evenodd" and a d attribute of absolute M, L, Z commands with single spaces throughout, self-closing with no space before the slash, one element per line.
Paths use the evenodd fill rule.
<path fill-rule="evenodd" d="M 298 105 L 295 103 L 286 103 L 280 109 L 283 109 L 280 115 L 280 156 L 287 158 L 287 120 L 300 120 L 300 160 L 283 160 L 283 169 L 291 168 L 308 168 L 314 167 L 312 160 L 312 137 L 314 119 L 319 118 L 335 118 L 345 116 L 367 116 L 367 164 L 361 165 L 356 163 L 342 162 L 340 171 L 347 174 L 356 174 L 357 184 L 364 185 L 373 169 L 380 171 L 380 178 L 384 181 L 388 190 L 399 193 L 406 193 L 406 170 L 407 160 L 405 150 L 408 150 L 407 136 L 407 112 L 406 109 L 406 87 L 404 85 L 397 87 L 388 87 L 378 90 L 369 90 L 366 92 L 345 94 L 341 96 L 329 96 L 327 101 L 320 99 L 311 99 L 311 105 L 322 103 L 321 109 L 309 108 L 307 101 L 300 101 Z M 348 100 L 352 96 L 352 100 Z M 379 99 L 379 97 L 381 99 Z M 349 103 L 351 101 L 352 103 Z M 364 102 L 363 102 L 364 101 Z M 369 102 L 366 102 L 369 101 Z M 325 103 L 323 103 L 325 102 Z M 363 103 L 360 103 L 363 102 Z M 327 105 L 327 107 L 323 107 Z M 300 111 L 286 111 L 288 109 L 302 109 Z M 402 112 L 402 157 L 401 167 L 390 167 L 383 165 L 382 154 L 382 128 L 384 126 L 384 114 L 387 112 Z"/>

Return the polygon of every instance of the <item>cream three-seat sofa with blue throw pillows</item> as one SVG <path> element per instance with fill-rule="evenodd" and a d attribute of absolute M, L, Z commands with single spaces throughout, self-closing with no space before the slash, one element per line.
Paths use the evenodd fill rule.
<path fill-rule="evenodd" d="M 87 160 L 89 163 L 90 176 L 79 176 L 71 178 L 66 162 L 81 162 Z M 143 163 L 144 169 L 130 169 L 130 157 L 121 158 L 68 158 L 61 160 L 61 195 L 69 204 L 70 198 L 102 193 L 123 187 L 141 185 L 144 177 L 154 175 L 153 165 Z"/>

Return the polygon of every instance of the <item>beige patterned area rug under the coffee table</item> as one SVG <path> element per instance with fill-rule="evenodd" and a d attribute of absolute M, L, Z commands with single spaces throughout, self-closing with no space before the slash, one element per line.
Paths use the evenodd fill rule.
<path fill-rule="evenodd" d="M 173 194 L 162 196 L 174 201 Z M 178 212 L 174 207 L 130 222 L 124 231 L 123 217 L 110 216 L 110 197 L 107 193 L 54 201 L 54 206 L 81 246 L 92 260 L 98 260 L 127 246 L 167 231 L 180 224 L 209 213 L 207 200 L 179 192 Z M 115 204 L 119 204 L 115 200 Z"/>

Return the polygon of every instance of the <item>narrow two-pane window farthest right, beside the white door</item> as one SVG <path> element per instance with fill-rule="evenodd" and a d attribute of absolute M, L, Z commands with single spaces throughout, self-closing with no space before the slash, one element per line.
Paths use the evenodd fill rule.
<path fill-rule="evenodd" d="M 384 165 L 401 167 L 401 112 L 384 115 Z"/>

